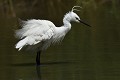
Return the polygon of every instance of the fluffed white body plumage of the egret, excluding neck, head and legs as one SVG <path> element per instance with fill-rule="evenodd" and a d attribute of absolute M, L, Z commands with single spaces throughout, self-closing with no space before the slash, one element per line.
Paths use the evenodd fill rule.
<path fill-rule="evenodd" d="M 36 45 L 35 50 L 44 50 L 51 43 L 59 42 L 65 36 L 65 27 L 56 27 L 48 20 L 28 20 L 23 21 L 22 29 L 16 31 L 16 37 L 22 39 L 16 44 L 16 48 L 22 49 L 25 45 Z M 40 48 L 40 49 L 39 49 Z M 32 47 L 29 47 L 32 49 Z"/>

